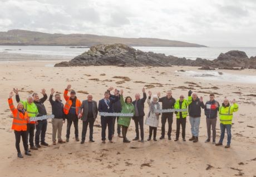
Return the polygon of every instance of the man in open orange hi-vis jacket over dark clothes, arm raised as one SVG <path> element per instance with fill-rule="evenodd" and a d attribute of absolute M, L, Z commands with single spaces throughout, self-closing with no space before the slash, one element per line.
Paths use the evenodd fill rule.
<path fill-rule="evenodd" d="M 67 85 L 67 88 L 64 90 L 64 98 L 66 100 L 66 104 L 64 105 L 63 111 L 67 118 L 67 134 L 66 134 L 66 142 L 70 141 L 70 129 L 72 123 L 75 128 L 75 138 L 76 141 L 79 141 L 78 138 L 78 110 L 81 106 L 80 100 L 76 97 L 75 90 L 71 90 L 70 96 L 68 96 L 68 90 L 71 89 L 71 85 Z"/>

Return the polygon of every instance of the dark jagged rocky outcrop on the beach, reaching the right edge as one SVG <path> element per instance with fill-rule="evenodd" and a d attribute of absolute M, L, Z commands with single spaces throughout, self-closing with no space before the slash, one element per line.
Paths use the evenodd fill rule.
<path fill-rule="evenodd" d="M 92 46 L 87 52 L 78 55 L 69 62 L 55 64 L 55 67 L 73 67 L 88 65 L 116 65 L 119 67 L 170 67 L 186 65 L 210 68 L 256 68 L 256 57 L 248 58 L 245 52 L 231 50 L 221 53 L 214 60 L 196 58 L 195 60 L 166 56 L 161 53 L 142 52 L 125 44 L 100 44 Z"/>

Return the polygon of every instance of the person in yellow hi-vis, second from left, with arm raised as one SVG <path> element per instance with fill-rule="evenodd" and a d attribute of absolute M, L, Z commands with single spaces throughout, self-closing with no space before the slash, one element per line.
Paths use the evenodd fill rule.
<path fill-rule="evenodd" d="M 22 103 L 24 106 L 24 109 L 27 110 L 28 117 L 29 118 L 36 117 L 38 115 L 38 109 L 37 109 L 37 105 L 33 102 L 33 100 L 34 100 L 33 96 L 28 95 L 27 100 L 25 101 L 25 100 L 21 100 L 19 98 L 17 88 L 13 89 L 13 92 L 16 93 L 16 102 Z M 37 121 L 35 122 L 35 121 L 30 121 L 30 120 L 28 120 L 28 123 L 27 123 L 27 136 L 29 136 L 30 149 L 33 149 L 33 150 L 38 150 L 38 148 L 34 144 L 34 132 L 35 132 L 36 124 L 38 124 Z"/>

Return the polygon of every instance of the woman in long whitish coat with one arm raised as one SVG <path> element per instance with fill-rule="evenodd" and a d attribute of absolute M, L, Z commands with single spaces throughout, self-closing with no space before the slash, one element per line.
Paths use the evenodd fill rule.
<path fill-rule="evenodd" d="M 149 138 L 148 141 L 151 140 L 152 132 L 154 131 L 154 141 L 156 140 L 156 131 L 159 124 L 159 115 L 160 113 L 156 113 L 155 110 L 160 109 L 160 104 L 158 103 L 157 95 L 152 95 L 152 92 L 149 90 L 149 98 L 147 98 L 147 104 L 149 104 L 149 113 L 147 114 L 147 118 L 145 120 L 145 124 L 149 125 Z"/>

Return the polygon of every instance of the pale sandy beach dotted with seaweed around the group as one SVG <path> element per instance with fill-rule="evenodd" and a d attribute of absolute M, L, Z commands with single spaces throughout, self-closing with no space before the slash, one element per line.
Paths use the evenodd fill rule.
<path fill-rule="evenodd" d="M 1 176 L 255 176 L 256 175 L 256 100 L 248 96 L 255 94 L 255 84 L 241 84 L 232 82 L 210 81 L 184 77 L 175 70 L 197 70 L 196 67 L 71 67 L 53 68 L 45 67 L 51 61 L 41 62 L 2 62 L 0 63 L 0 171 Z M 221 70 L 223 72 L 223 70 Z M 225 71 L 229 73 L 243 73 L 255 75 L 255 70 Z M 100 74 L 106 75 L 100 75 Z M 91 75 L 91 76 L 88 76 Z M 122 79 L 114 76 L 126 76 L 130 81 L 116 84 Z M 90 80 L 95 79 L 95 80 Z M 99 79 L 97 81 L 97 79 Z M 109 79 L 109 80 L 106 80 Z M 106 80 L 106 81 L 104 81 Z M 112 80 L 112 81 L 111 81 Z M 138 81 L 139 83 L 135 83 Z M 145 83 L 141 83 L 145 82 Z M 195 82 L 200 87 L 185 82 Z M 132 141 L 130 144 L 122 143 L 121 138 L 114 137 L 115 143 L 101 143 L 101 128 L 94 127 L 93 138 L 95 143 L 80 144 L 74 139 L 74 128 L 71 128 L 70 142 L 52 145 L 51 120 L 48 120 L 46 141 L 48 147 L 33 150 L 32 156 L 24 155 L 23 159 L 17 158 L 14 146 L 14 133 L 11 130 L 12 115 L 8 108 L 7 98 L 12 88 L 17 87 L 22 99 L 26 98 L 27 91 L 40 93 L 42 88 L 47 90 L 55 88 L 63 93 L 67 84 L 72 85 L 76 91 L 82 90 L 93 94 L 97 102 L 103 97 L 104 91 L 110 86 L 123 88 L 124 95 L 134 98 L 135 93 L 141 93 L 145 85 L 154 85 L 150 90 L 154 93 L 173 89 L 173 97 L 179 98 L 180 94 L 187 95 L 188 89 L 175 87 L 193 87 L 194 92 L 216 92 L 216 100 L 221 102 L 224 96 L 237 99 L 239 111 L 234 114 L 232 126 L 232 146 L 225 149 L 211 143 L 204 143 L 206 139 L 206 123 L 202 110 L 200 136 L 198 143 L 188 141 L 191 136 L 190 124 L 187 120 L 186 139 L 183 142 L 174 141 L 176 118 L 174 116 L 172 140 L 159 140 L 161 128 L 157 129 L 158 141 L 139 143 Z M 190 85 L 190 86 L 189 86 Z M 203 89 L 210 87 L 218 89 Z M 203 88 L 202 88 L 203 87 Z M 148 89 L 147 89 L 148 90 Z M 147 91 L 146 91 L 147 92 Z M 233 92 L 240 92 L 233 93 Z M 204 102 L 209 99 L 208 93 L 199 93 L 204 97 Z M 86 94 L 77 93 L 80 100 L 86 99 Z M 63 96 L 62 96 L 63 99 Z M 47 112 L 51 113 L 51 105 L 45 102 Z M 146 104 L 145 104 L 146 105 Z M 146 105 L 145 112 L 148 107 Z M 100 117 L 95 124 L 100 124 Z M 161 124 L 160 124 L 161 125 Z M 79 136 L 81 138 L 82 123 L 79 122 Z M 248 127 L 250 126 L 250 127 Z M 217 122 L 217 138 L 219 140 L 219 120 Z M 149 127 L 145 125 L 145 139 L 149 135 Z M 166 131 L 168 123 L 166 123 Z M 62 138 L 65 139 L 66 124 L 63 125 Z M 135 136 L 134 122 L 131 122 L 127 138 Z M 180 135 L 181 136 L 181 135 Z M 224 144 L 227 142 L 225 135 Z M 23 146 L 21 143 L 21 150 Z"/>

